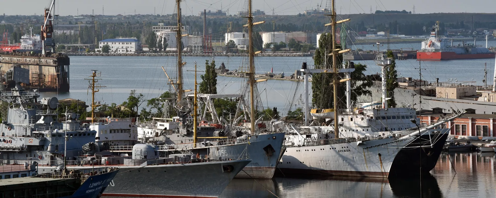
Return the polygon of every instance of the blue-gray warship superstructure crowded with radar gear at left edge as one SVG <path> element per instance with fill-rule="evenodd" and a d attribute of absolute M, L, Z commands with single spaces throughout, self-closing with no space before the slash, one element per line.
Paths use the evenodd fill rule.
<path fill-rule="evenodd" d="M 10 91 L 0 86 L 0 164 L 37 161 L 50 166 L 62 163 L 64 156 L 71 159 L 83 151 L 106 149 L 94 143 L 96 131 L 81 125 L 79 115 L 66 112 L 65 121 L 59 122 L 57 98 L 38 100 L 36 90 L 23 90 L 20 83 L 29 83 L 28 77 L 29 70 L 14 66 L 2 79 L 16 86 Z"/>

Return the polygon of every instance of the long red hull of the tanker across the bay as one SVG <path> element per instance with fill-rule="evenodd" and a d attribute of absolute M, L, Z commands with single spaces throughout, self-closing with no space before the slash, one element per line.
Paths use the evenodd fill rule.
<path fill-rule="evenodd" d="M 457 54 L 451 51 L 427 52 L 418 51 L 417 59 L 419 60 L 456 60 L 456 59 L 481 59 L 494 58 L 495 53 L 478 53 L 478 54 Z"/>

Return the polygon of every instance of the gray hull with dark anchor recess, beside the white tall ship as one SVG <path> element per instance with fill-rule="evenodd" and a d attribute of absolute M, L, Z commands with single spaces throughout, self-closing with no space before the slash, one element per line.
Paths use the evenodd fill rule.
<path fill-rule="evenodd" d="M 253 135 L 249 144 L 216 146 L 210 149 L 213 159 L 248 153 L 251 162 L 236 175 L 236 178 L 270 179 L 274 176 L 284 142 L 285 133 Z"/>

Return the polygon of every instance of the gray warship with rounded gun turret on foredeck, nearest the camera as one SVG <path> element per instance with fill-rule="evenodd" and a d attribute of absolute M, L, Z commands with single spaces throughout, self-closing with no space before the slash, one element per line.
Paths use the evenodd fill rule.
<path fill-rule="evenodd" d="M 195 154 L 171 154 L 160 157 L 156 145 L 136 144 L 132 157 L 124 157 L 124 164 L 83 164 L 82 157 L 67 169 L 115 167 L 120 173 L 105 190 L 104 196 L 125 197 L 219 197 L 229 182 L 250 160 L 242 155 L 222 159 L 196 158 Z M 50 173 L 58 167 L 39 167 L 40 173 Z"/>

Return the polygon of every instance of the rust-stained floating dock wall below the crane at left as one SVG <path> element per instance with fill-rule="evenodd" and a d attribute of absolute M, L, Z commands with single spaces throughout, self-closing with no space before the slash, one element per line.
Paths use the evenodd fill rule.
<path fill-rule="evenodd" d="M 26 90 L 69 92 L 69 64 L 69 57 L 62 53 L 0 53 L 0 75 L 14 66 L 29 69 L 29 83 L 21 84 Z M 6 84 L 8 88 L 15 86 L 13 81 Z"/>

